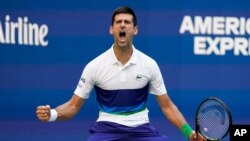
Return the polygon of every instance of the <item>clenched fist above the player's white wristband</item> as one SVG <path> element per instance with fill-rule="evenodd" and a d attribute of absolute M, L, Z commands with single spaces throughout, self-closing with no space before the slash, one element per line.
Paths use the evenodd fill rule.
<path fill-rule="evenodd" d="M 50 113 L 50 106 L 38 106 L 36 108 L 36 116 L 41 121 L 49 121 L 51 113 Z"/>

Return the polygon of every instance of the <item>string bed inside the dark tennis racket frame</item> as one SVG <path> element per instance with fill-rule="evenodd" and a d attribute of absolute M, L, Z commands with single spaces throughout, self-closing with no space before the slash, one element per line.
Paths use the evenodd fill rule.
<path fill-rule="evenodd" d="M 210 139 L 221 139 L 228 131 L 230 119 L 223 106 L 207 101 L 199 110 L 200 132 Z"/>

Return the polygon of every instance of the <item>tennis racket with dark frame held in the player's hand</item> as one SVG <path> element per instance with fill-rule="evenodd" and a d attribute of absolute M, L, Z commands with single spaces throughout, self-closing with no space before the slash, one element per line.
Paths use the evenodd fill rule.
<path fill-rule="evenodd" d="M 227 105 L 216 97 L 203 100 L 196 111 L 196 133 L 208 141 L 219 141 L 229 133 L 232 115 Z"/>

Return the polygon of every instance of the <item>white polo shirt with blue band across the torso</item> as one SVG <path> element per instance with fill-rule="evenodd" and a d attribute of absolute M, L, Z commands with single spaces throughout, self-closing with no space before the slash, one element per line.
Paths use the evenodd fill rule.
<path fill-rule="evenodd" d="M 99 104 L 98 121 L 129 127 L 149 122 L 147 96 L 166 94 L 157 63 L 133 46 L 130 60 L 122 65 L 113 46 L 89 62 L 74 93 L 87 99 L 95 88 Z"/>

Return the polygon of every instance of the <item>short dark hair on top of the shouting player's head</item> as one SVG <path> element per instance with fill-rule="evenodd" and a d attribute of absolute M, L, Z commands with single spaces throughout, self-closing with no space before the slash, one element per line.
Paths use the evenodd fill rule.
<path fill-rule="evenodd" d="M 136 19 L 135 12 L 133 11 L 133 9 L 131 9 L 130 7 L 127 7 L 127 6 L 118 7 L 114 10 L 113 15 L 112 15 L 111 25 L 114 24 L 115 16 L 118 14 L 122 14 L 122 13 L 132 15 L 133 16 L 133 24 L 134 24 L 134 26 L 137 26 L 137 19 Z"/>

